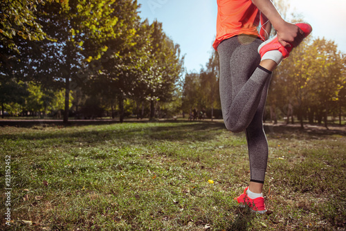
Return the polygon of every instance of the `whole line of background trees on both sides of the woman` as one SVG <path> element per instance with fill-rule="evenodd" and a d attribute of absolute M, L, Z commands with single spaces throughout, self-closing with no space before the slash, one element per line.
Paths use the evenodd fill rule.
<path fill-rule="evenodd" d="M 276 4 L 286 15 L 285 4 Z M 137 1 L 16 0 L 0 7 L 2 116 L 122 122 L 186 118 L 196 109 L 201 118 L 221 118 L 217 52 L 186 73 L 179 45 L 160 22 L 140 19 Z M 334 41 L 309 37 L 275 70 L 265 119 L 341 123 L 345 61 Z"/>

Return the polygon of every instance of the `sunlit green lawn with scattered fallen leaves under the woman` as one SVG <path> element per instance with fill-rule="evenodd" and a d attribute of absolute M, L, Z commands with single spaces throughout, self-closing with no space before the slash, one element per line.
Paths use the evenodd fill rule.
<path fill-rule="evenodd" d="M 233 201 L 248 184 L 247 145 L 222 122 L 2 127 L 12 221 L 0 228 L 344 230 L 345 132 L 266 129 L 271 212 L 260 215 Z"/>

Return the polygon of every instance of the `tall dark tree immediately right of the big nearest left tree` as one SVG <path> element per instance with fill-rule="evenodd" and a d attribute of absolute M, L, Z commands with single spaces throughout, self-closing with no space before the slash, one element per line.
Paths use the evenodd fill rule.
<path fill-rule="evenodd" d="M 133 95 L 138 73 L 147 59 L 147 29 L 145 24 L 140 24 L 137 10 L 136 2 L 124 1 L 122 5 L 118 4 L 114 12 L 118 12 L 117 18 L 121 25 L 126 25 L 126 30 L 120 30 L 121 36 L 105 39 L 102 44 L 107 47 L 107 52 L 89 64 L 89 70 L 93 73 L 89 86 L 107 95 L 112 117 L 114 102 L 118 101 L 120 122 L 124 118 L 124 100 Z"/>

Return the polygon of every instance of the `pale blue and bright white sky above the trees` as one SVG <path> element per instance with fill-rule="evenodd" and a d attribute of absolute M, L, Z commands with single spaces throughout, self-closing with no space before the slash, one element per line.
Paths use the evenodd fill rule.
<path fill-rule="evenodd" d="M 289 12 L 311 24 L 313 38 L 335 41 L 346 53 L 346 0 L 290 0 Z M 185 70 L 199 72 L 212 53 L 216 35 L 216 0 L 138 0 L 140 17 L 150 23 L 157 19 L 163 31 L 185 55 Z"/>

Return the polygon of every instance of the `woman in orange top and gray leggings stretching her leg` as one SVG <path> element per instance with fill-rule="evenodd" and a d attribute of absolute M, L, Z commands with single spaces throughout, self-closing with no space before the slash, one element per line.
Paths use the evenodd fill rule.
<path fill-rule="evenodd" d="M 248 187 L 235 199 L 264 213 L 268 142 L 262 118 L 271 73 L 312 29 L 284 21 L 270 0 L 217 0 L 217 5 L 213 47 L 219 53 L 222 113 L 228 130 L 245 131 L 251 169 Z M 265 41 L 272 25 L 277 35 Z"/>

